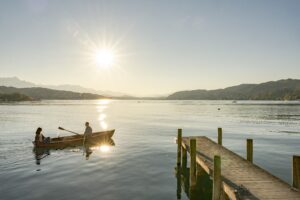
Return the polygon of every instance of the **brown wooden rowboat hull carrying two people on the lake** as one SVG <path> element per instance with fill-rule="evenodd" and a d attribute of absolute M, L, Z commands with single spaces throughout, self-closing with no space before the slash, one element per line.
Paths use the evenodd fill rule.
<path fill-rule="evenodd" d="M 101 131 L 101 132 L 94 132 L 91 134 L 89 139 L 85 142 L 84 135 L 78 134 L 78 135 L 72 135 L 72 136 L 65 136 L 65 137 L 56 137 L 51 138 L 49 143 L 35 143 L 32 142 L 36 148 L 66 148 L 66 147 L 75 147 L 83 145 L 83 143 L 88 144 L 100 144 L 104 143 L 105 141 L 109 141 L 111 137 L 114 135 L 115 130 L 108 130 L 108 131 Z"/>

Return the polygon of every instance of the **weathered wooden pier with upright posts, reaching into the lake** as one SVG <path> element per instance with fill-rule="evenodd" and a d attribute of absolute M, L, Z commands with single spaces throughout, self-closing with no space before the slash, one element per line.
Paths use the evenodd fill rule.
<path fill-rule="evenodd" d="M 299 199 L 300 156 L 293 157 L 293 185 L 253 164 L 253 140 L 247 139 L 247 158 L 222 146 L 222 129 L 218 143 L 205 136 L 182 137 L 178 129 L 177 168 L 187 168 L 190 154 L 189 185 L 196 186 L 197 174 L 205 171 L 213 182 L 212 199 Z M 181 170 L 179 170 L 181 171 Z M 201 173 L 201 172 L 199 172 Z"/>

